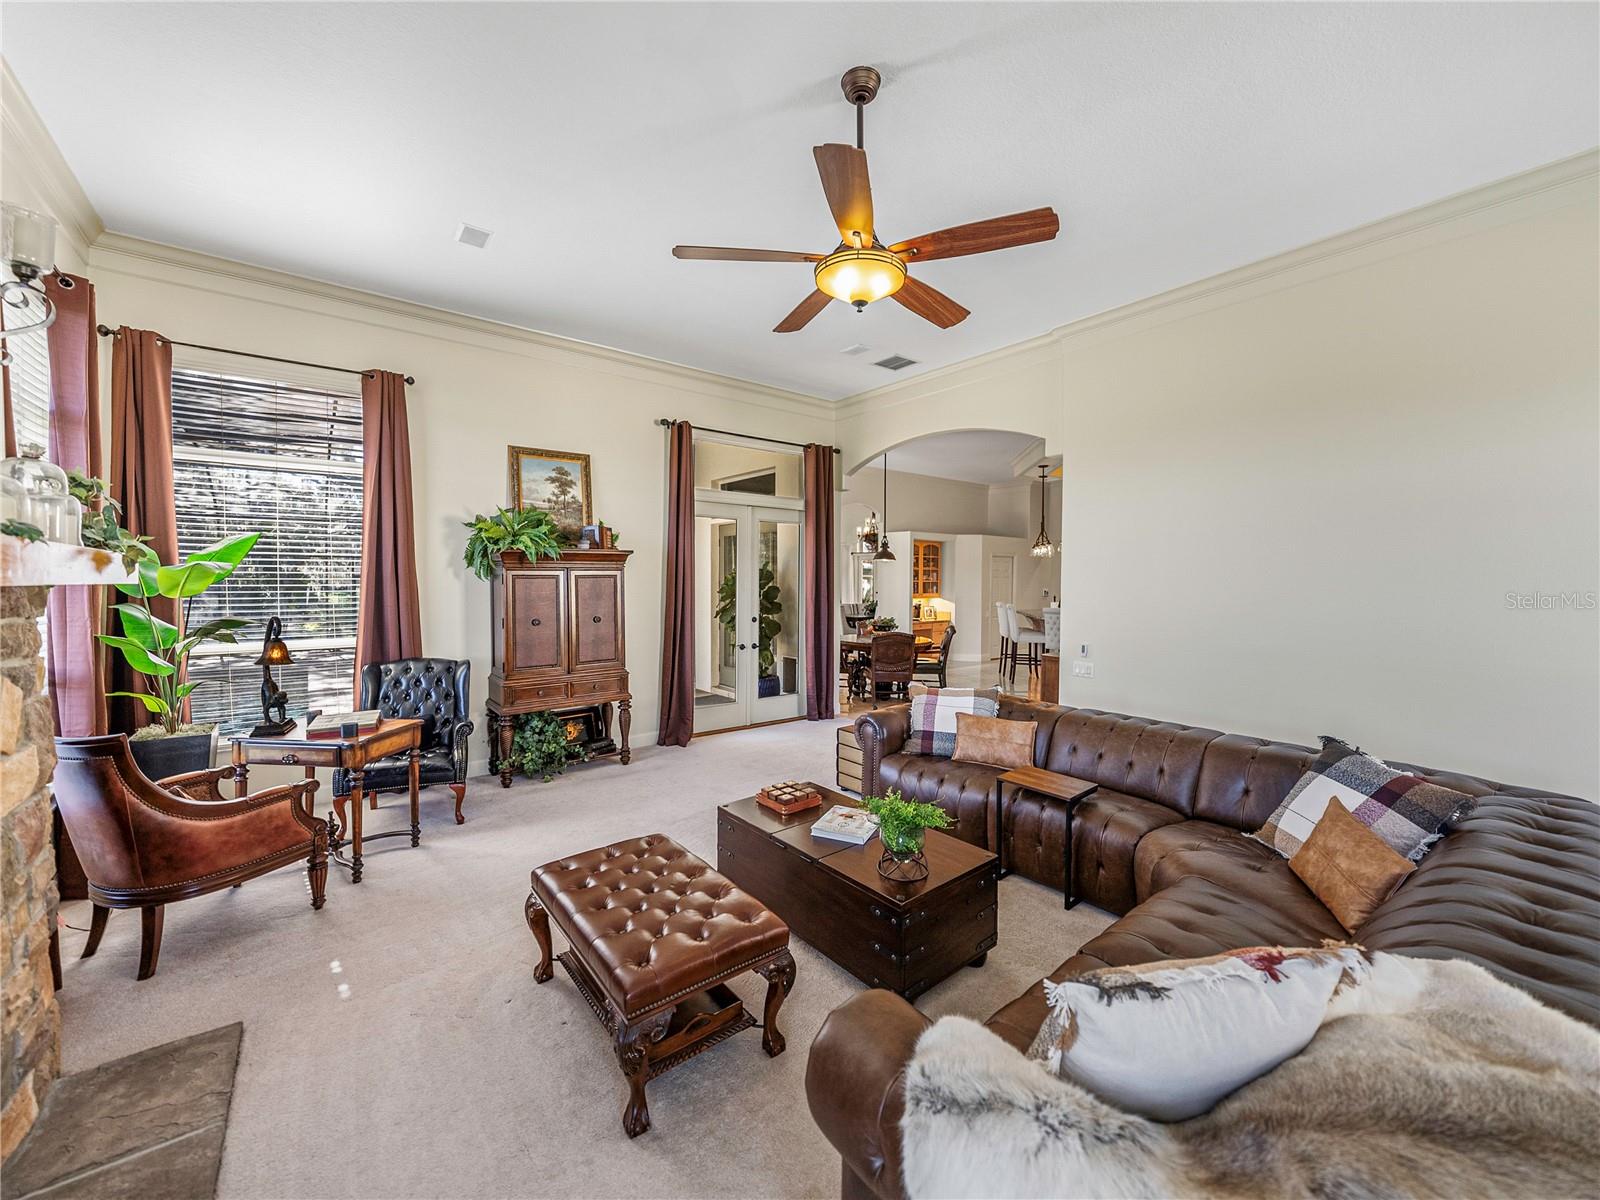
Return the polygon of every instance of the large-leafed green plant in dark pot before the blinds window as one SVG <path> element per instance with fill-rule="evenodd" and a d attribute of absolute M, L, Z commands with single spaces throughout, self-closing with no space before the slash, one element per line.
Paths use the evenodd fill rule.
<path fill-rule="evenodd" d="M 133 602 L 110 606 L 120 618 L 122 632 L 98 637 L 144 677 L 146 691 L 110 691 L 107 696 L 136 699 L 154 717 L 128 739 L 134 762 L 150 779 L 203 771 L 211 765 L 216 725 L 192 725 L 182 717 L 184 701 L 198 686 L 186 678 L 189 654 L 203 642 L 237 642 L 234 630 L 248 624 L 224 616 L 195 627 L 189 627 L 186 619 L 184 627 L 178 627 L 155 616 L 150 602 L 157 597 L 178 600 L 187 618 L 194 598 L 227 579 L 259 538 L 259 533 L 224 538 L 176 566 L 163 566 L 155 550 L 141 542 L 123 547 L 136 554 L 138 562 L 133 582 L 117 584 L 117 590 L 133 597 Z"/>

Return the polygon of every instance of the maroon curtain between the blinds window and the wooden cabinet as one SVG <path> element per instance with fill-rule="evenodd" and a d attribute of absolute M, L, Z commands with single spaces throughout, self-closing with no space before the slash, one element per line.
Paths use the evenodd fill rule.
<path fill-rule="evenodd" d="M 422 606 L 416 587 L 416 525 L 411 515 L 411 432 L 405 376 L 362 376 L 362 587 L 355 619 L 355 678 L 362 667 L 422 653 Z"/>

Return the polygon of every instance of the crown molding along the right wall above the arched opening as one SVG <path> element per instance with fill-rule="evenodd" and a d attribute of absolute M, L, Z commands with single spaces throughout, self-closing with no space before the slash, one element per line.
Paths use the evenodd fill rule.
<path fill-rule="evenodd" d="M 1422 246 L 1520 221 L 1552 208 L 1571 203 L 1592 205 L 1597 182 L 1600 182 L 1600 149 L 1584 150 L 1259 262 L 1107 309 L 1024 342 L 925 371 L 914 379 L 858 392 L 837 402 L 835 411 L 840 421 L 848 421 L 867 411 L 922 402 L 955 387 L 998 379 L 1048 362 L 1051 357 L 1064 363 L 1064 355 L 1074 342 L 1126 336 L 1386 258 L 1398 258 Z"/>

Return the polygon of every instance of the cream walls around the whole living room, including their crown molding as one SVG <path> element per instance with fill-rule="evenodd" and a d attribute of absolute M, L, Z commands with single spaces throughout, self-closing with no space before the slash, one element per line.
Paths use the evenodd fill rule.
<path fill-rule="evenodd" d="M 93 211 L 42 182 L 48 139 L 18 149 L 6 86 L 5 195 L 69 210 L 88 245 Z M 1515 597 L 1600 590 L 1597 165 L 1554 163 L 837 408 L 117 237 L 86 267 L 107 323 L 418 376 L 424 642 L 469 654 L 480 690 L 488 598 L 461 566 L 461 522 L 502 502 L 507 443 L 594 456 L 597 512 L 637 552 L 629 659 L 648 736 L 654 418 L 832 440 L 845 472 L 907 430 L 1010 429 L 1066 464 L 1064 642 L 1086 642 L 1096 669 L 1064 664 L 1067 702 L 1338 733 L 1595 797 L 1600 613 Z"/>

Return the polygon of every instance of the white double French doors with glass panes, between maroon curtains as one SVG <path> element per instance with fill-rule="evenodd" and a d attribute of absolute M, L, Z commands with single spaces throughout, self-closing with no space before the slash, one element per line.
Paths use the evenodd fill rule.
<path fill-rule="evenodd" d="M 803 715 L 800 522 L 781 502 L 696 499 L 694 733 Z"/>

